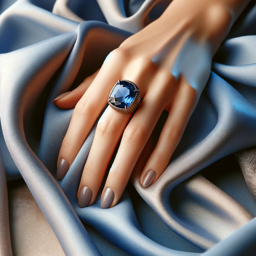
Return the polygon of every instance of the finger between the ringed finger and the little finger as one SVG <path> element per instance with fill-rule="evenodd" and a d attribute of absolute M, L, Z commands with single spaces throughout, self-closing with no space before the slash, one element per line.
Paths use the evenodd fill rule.
<path fill-rule="evenodd" d="M 168 74 L 168 78 L 164 79 L 164 82 L 158 81 L 159 83 L 156 83 L 156 80 L 153 82 L 157 84 L 157 87 L 152 87 L 152 90 L 147 92 L 140 108 L 127 125 L 114 163 L 109 171 L 105 188 L 102 191 L 102 208 L 116 205 L 122 196 L 141 151 L 153 132 L 166 102 L 170 99 L 173 89 L 171 80 L 171 74 Z"/>

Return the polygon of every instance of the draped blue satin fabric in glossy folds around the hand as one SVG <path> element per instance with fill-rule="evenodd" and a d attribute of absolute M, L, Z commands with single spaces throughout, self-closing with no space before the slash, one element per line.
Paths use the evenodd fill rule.
<path fill-rule="evenodd" d="M 139 15 L 132 15 L 132 10 L 133 14 L 140 14 L 148 4 L 150 15 L 154 16 L 155 4 L 155 15 L 159 14 L 157 1 L 138 1 L 139 5 L 133 8 L 134 2 L 111 0 L 110 11 L 102 9 L 100 0 L 83 4 L 2 2 L 2 6 L 10 7 L 0 15 L 0 146 L 4 162 L 3 166 L 0 158 L 1 189 L 6 191 L 4 167 L 7 180 L 22 176 L 66 255 L 108 254 L 100 252 L 81 221 L 131 255 L 253 255 L 255 203 L 248 197 L 244 201 L 251 208 L 247 207 L 246 202 L 228 195 L 225 188 L 206 179 L 201 171 L 222 157 L 256 145 L 254 3 L 215 55 L 209 81 L 164 173 L 154 185 L 141 187 L 140 173 L 154 148 L 155 133 L 132 173 L 132 186 L 158 215 L 150 217 L 151 222 L 162 220 L 173 230 L 172 239 L 180 244 L 180 250 L 174 250 L 174 245 L 170 246 L 172 249 L 165 247 L 144 234 L 133 209 L 131 189 L 126 189 L 120 202 L 110 209 L 100 208 L 103 186 L 95 203 L 78 207 L 79 180 L 97 122 L 65 178 L 60 182 L 56 179 L 58 153 L 73 109 L 59 109 L 52 100 L 74 89 L 102 65 L 109 52 L 131 35 L 125 29 L 127 24 L 139 28 Z M 113 27 L 106 11 L 109 15 L 125 13 L 127 20 L 114 20 L 115 24 L 119 22 L 119 28 Z M 79 23 L 79 19 L 86 21 Z M 182 65 L 182 58 L 179 61 Z M 1 209 L 5 211 L 0 211 L 0 243 L 6 245 L 5 254 L 11 255 L 10 237 L 2 236 L 2 230 L 8 231 L 6 196 L 1 193 Z M 141 207 L 145 216 L 147 204 Z M 154 226 L 142 222 L 143 229 Z M 158 234 L 160 241 L 166 239 L 165 234 Z"/>

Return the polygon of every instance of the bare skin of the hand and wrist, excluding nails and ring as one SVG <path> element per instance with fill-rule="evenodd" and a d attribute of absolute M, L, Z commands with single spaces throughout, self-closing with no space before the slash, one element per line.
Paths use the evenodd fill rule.
<path fill-rule="evenodd" d="M 80 86 L 54 100 L 60 108 L 75 108 L 58 157 L 58 163 L 65 158 L 70 166 L 118 79 L 129 79 L 137 84 L 143 99 L 134 115 L 118 113 L 110 107 L 106 109 L 97 125 L 77 198 L 82 187 L 87 186 L 92 190 L 88 206 L 94 202 L 123 134 L 101 195 L 102 199 L 106 188 L 113 189 L 115 196 L 110 207 L 115 206 L 158 118 L 166 109 L 169 115 L 141 173 L 140 183 L 149 170 L 156 172 L 151 184 L 159 178 L 169 164 L 202 92 L 189 84 L 186 75 L 173 76 L 170 70 L 178 54 L 189 51 L 183 47 L 189 38 L 193 38 L 198 47 L 207 46 L 210 50 L 206 59 L 210 65 L 206 71 L 210 74 L 213 55 L 248 3 L 246 0 L 173 0 L 160 18 L 127 38 Z M 167 45 L 171 47 L 166 51 Z M 153 59 L 161 53 L 164 53 L 163 57 L 154 62 Z"/>

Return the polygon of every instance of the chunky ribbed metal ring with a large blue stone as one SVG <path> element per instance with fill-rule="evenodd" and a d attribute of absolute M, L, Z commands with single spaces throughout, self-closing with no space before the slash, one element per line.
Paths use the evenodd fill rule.
<path fill-rule="evenodd" d="M 108 105 L 118 112 L 134 113 L 140 106 L 141 95 L 139 87 L 129 81 L 118 79 L 108 96 Z"/>

